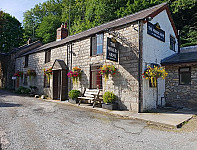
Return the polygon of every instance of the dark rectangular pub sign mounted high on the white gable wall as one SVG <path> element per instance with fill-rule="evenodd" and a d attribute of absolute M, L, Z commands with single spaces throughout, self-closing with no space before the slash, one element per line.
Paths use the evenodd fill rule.
<path fill-rule="evenodd" d="M 158 23 L 156 23 L 155 25 L 147 22 L 147 33 L 155 38 L 157 38 L 158 40 L 165 42 L 165 31 L 163 31 L 162 29 L 160 29 L 160 26 Z"/>

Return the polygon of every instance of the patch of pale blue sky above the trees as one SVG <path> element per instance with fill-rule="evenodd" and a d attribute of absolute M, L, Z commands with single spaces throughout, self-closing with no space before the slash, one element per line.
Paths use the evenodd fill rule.
<path fill-rule="evenodd" d="M 22 23 L 24 12 L 45 1 L 47 0 L 0 0 L 0 10 L 9 13 Z"/>

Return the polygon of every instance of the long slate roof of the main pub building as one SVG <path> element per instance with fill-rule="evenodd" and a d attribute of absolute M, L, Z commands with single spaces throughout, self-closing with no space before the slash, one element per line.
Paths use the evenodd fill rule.
<path fill-rule="evenodd" d="M 61 46 L 61 45 L 64 45 L 68 42 L 79 40 L 79 39 L 91 36 L 93 34 L 106 31 L 106 29 L 109 29 L 109 28 L 120 27 L 122 25 L 126 25 L 126 24 L 129 24 L 129 23 L 141 20 L 141 19 L 145 19 L 145 18 L 151 16 L 153 13 L 156 13 L 158 10 L 162 10 L 164 8 L 167 8 L 167 7 L 168 7 L 167 3 L 162 3 L 162 4 L 159 4 L 159 5 L 150 7 L 148 9 L 145 9 L 145 10 L 139 11 L 137 13 L 125 16 L 123 18 L 119 18 L 119 19 L 104 23 L 102 25 L 96 26 L 96 27 L 91 28 L 89 30 L 80 32 L 78 34 L 68 36 L 61 41 L 54 41 L 54 42 L 45 44 L 45 45 L 43 45 L 39 48 L 36 48 L 32 51 L 27 52 L 27 53 L 25 53 L 21 56 L 36 53 L 36 52 L 40 52 L 40 51 L 44 51 L 44 50 L 47 50 L 47 49 L 50 49 L 50 48 L 53 48 L 53 47 Z"/>

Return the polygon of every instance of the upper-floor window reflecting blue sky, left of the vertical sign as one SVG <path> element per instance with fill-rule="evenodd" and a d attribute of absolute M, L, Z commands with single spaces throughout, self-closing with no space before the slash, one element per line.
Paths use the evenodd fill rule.
<path fill-rule="evenodd" d="M 91 56 L 103 53 L 103 34 L 96 34 L 91 37 Z"/>

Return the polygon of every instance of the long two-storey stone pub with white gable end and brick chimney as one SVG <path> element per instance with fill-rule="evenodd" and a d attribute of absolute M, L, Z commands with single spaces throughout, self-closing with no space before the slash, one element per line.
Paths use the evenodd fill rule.
<path fill-rule="evenodd" d="M 177 31 L 166 3 L 102 24 L 76 35 L 67 36 L 66 25 L 57 29 L 57 40 L 28 51 L 16 59 L 16 70 L 34 70 L 24 76 L 20 86 L 36 86 L 40 94 L 67 99 L 71 89 L 100 88 L 117 96 L 120 109 L 141 112 L 156 108 L 165 92 L 165 81 L 158 88 L 142 78 L 147 65 L 177 51 Z M 174 47 L 170 48 L 173 39 Z M 118 73 L 105 81 L 99 75 L 104 64 L 114 65 Z M 50 82 L 43 73 L 52 67 Z M 82 70 L 78 84 L 67 77 L 69 70 Z"/>

